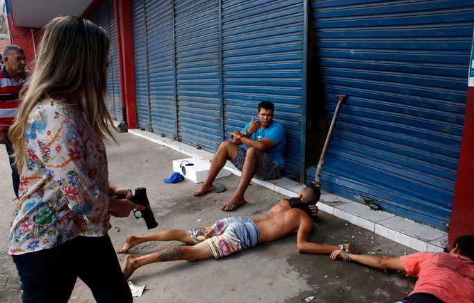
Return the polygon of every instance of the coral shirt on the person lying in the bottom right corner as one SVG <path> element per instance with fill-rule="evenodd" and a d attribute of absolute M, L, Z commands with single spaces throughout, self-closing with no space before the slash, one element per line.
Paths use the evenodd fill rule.
<path fill-rule="evenodd" d="M 444 302 L 474 302 L 474 263 L 445 252 L 401 256 L 407 276 L 418 277 L 410 293 L 431 293 Z"/>

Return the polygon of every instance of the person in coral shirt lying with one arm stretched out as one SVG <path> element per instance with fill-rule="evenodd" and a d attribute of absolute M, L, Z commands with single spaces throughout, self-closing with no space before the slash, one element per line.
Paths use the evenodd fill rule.
<path fill-rule="evenodd" d="M 334 250 L 331 259 L 338 257 L 383 270 L 404 270 L 407 276 L 418 277 L 414 290 L 398 302 L 474 302 L 474 235 L 457 238 L 449 252 L 377 256 Z"/>

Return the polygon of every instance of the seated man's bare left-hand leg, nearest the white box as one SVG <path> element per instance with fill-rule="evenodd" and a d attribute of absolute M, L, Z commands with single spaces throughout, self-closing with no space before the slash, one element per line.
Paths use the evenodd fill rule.
<path fill-rule="evenodd" d="M 213 190 L 213 182 L 215 177 L 217 177 L 220 170 L 222 170 L 222 167 L 224 167 L 227 160 L 234 160 L 236 158 L 237 151 L 238 145 L 235 145 L 230 141 L 224 141 L 220 143 L 218 151 L 215 152 L 213 161 L 211 162 L 211 168 L 209 169 L 209 174 L 207 175 L 206 181 L 202 183 L 201 188 L 195 191 L 193 195 L 199 197 Z"/>

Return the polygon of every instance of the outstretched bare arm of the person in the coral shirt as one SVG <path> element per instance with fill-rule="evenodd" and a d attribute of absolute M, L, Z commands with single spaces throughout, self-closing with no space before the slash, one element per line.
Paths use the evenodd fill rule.
<path fill-rule="evenodd" d="M 351 254 L 343 249 L 336 249 L 331 254 L 331 259 L 336 260 L 340 256 L 345 261 L 356 261 L 381 270 L 405 270 L 400 256 L 377 256 L 376 254 Z"/>

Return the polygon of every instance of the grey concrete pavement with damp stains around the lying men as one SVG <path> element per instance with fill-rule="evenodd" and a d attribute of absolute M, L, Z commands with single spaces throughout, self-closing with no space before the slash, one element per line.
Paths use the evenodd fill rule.
<path fill-rule="evenodd" d="M 129 133 L 118 134 L 117 139 L 120 146 L 111 144 L 107 148 L 110 179 L 121 187 L 147 188 L 159 223 L 152 231 L 204 227 L 229 215 L 261 215 L 284 197 L 252 183 L 246 194 L 250 203 L 233 213 L 224 213 L 220 206 L 234 193 L 238 177 L 231 175 L 219 179 L 227 186 L 224 193 L 193 197 L 198 186 L 191 181 L 163 183 L 172 172 L 172 160 L 188 156 Z M 8 229 L 15 202 L 5 149 L 0 151 L 0 169 L 3 172 L 0 190 L 4 210 L 0 213 L 0 302 L 21 302 L 19 279 L 8 256 Z M 111 224 L 110 235 L 117 248 L 127 234 L 152 232 L 147 230 L 143 220 L 136 220 L 133 215 L 113 218 Z M 320 214 L 310 239 L 326 244 L 347 242 L 366 253 L 402 255 L 414 252 L 326 213 Z M 144 243 L 131 249 L 130 253 L 148 254 L 167 245 L 179 243 Z M 123 256 L 118 257 L 122 261 Z M 218 261 L 147 265 L 138 269 L 131 281 L 137 286 L 147 285 L 142 297 L 134 300 L 143 303 L 304 302 L 309 296 L 315 296 L 311 302 L 394 302 L 406 296 L 414 286 L 414 279 L 407 279 L 402 272 L 384 272 L 341 260 L 331 261 L 327 254 L 299 254 L 295 235 L 257 245 Z M 95 301 L 87 286 L 78 281 L 70 302 Z"/>

